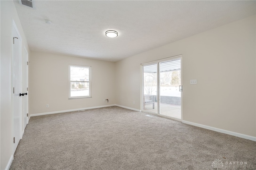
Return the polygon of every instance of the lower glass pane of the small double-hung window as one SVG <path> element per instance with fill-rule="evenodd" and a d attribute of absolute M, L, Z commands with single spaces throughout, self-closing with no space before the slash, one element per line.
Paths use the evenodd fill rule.
<path fill-rule="evenodd" d="M 89 96 L 89 82 L 71 82 L 70 97 Z"/>

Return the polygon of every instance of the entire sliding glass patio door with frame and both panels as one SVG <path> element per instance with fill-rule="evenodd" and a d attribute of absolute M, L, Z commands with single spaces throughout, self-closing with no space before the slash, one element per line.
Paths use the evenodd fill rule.
<path fill-rule="evenodd" d="M 142 74 L 142 110 L 182 119 L 181 56 L 144 64 Z"/>

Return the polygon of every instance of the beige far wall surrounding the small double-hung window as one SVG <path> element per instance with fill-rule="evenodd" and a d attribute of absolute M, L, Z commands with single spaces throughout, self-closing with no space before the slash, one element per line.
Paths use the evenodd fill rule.
<path fill-rule="evenodd" d="M 68 99 L 68 64 L 92 66 L 92 98 Z M 31 51 L 29 114 L 115 104 L 114 83 L 113 62 Z"/>

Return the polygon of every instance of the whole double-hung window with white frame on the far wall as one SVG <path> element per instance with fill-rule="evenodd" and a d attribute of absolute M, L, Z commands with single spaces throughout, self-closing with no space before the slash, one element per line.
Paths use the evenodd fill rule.
<path fill-rule="evenodd" d="M 69 65 L 69 85 L 68 99 L 91 97 L 91 67 Z"/>

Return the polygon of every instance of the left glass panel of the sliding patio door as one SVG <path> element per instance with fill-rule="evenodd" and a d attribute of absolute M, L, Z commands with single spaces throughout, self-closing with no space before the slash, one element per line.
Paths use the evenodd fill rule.
<path fill-rule="evenodd" d="M 158 67 L 157 64 L 143 66 L 143 111 L 158 113 Z"/>

